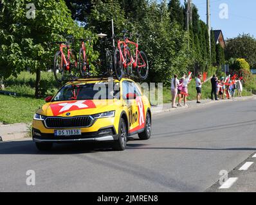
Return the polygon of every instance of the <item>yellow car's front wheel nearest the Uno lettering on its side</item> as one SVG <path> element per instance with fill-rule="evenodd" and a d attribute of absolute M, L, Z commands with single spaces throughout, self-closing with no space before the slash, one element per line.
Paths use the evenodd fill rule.
<path fill-rule="evenodd" d="M 118 140 L 114 142 L 113 149 L 115 151 L 123 151 L 126 148 L 127 143 L 127 124 L 123 118 L 120 119 Z"/>

